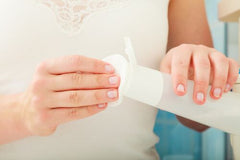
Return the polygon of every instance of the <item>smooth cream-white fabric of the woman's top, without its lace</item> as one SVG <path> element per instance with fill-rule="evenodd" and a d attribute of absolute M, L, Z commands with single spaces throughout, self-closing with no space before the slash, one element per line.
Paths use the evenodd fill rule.
<path fill-rule="evenodd" d="M 157 69 L 166 50 L 168 0 L 101 1 L 109 5 L 86 16 L 77 30 L 62 27 L 55 11 L 34 0 L 0 1 L 0 94 L 25 90 L 44 59 L 68 54 L 102 59 L 123 53 L 125 36 L 133 42 L 138 63 Z M 0 159 L 157 159 L 156 113 L 153 107 L 125 98 L 120 106 L 60 126 L 52 136 L 2 145 Z"/>

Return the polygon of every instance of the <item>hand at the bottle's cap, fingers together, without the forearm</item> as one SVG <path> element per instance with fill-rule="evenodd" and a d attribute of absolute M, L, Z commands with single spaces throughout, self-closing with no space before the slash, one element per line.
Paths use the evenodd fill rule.
<path fill-rule="evenodd" d="M 47 136 L 58 125 L 103 111 L 118 99 L 120 77 L 101 60 L 65 56 L 39 64 L 20 98 L 20 120 L 30 135 Z"/>

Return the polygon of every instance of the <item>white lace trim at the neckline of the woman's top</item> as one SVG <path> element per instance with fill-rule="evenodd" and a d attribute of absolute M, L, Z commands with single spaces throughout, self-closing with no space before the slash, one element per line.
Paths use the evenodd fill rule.
<path fill-rule="evenodd" d="M 77 34 L 84 21 L 93 13 L 118 6 L 128 0 L 38 0 L 50 8 L 64 32 Z"/>

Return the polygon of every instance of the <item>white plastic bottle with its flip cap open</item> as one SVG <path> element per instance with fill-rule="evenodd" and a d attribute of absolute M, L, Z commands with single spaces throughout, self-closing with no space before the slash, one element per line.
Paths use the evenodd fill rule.
<path fill-rule="evenodd" d="M 183 97 L 177 96 L 173 91 L 171 76 L 137 65 L 129 39 L 126 40 L 126 45 L 130 62 L 121 55 L 104 59 L 111 63 L 121 76 L 118 103 L 121 103 L 122 97 L 129 97 L 225 132 L 240 135 L 239 93 L 224 94 L 220 100 L 213 100 L 208 96 L 204 105 L 197 105 L 192 99 L 192 81 L 188 81 L 188 93 Z"/>

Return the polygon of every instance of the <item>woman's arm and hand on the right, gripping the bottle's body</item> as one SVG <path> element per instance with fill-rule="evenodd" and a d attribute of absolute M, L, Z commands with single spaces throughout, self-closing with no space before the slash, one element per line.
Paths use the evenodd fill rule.
<path fill-rule="evenodd" d="M 199 105 L 206 101 L 209 84 L 212 85 L 210 96 L 217 100 L 238 78 L 237 62 L 212 48 L 204 0 L 170 1 L 167 47 L 160 70 L 172 74 L 173 89 L 179 96 L 187 92 L 187 79 L 194 80 L 193 100 Z M 183 117 L 177 118 L 200 132 L 208 128 Z"/>

